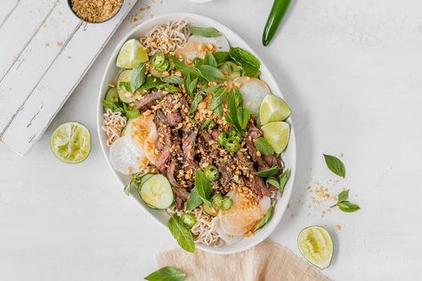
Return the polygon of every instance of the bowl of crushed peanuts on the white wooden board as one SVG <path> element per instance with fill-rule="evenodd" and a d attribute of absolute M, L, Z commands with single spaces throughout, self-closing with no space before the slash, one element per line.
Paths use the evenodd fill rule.
<path fill-rule="evenodd" d="M 120 9 L 123 0 L 69 0 L 71 10 L 81 20 L 103 22 Z"/>

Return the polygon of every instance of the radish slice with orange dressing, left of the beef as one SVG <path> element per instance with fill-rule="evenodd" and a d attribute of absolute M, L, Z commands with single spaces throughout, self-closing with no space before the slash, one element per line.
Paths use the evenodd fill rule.
<path fill-rule="evenodd" d="M 140 151 L 154 164 L 157 161 L 155 142 L 157 141 L 157 127 L 154 115 L 143 113 L 131 120 L 126 126 L 125 135 L 134 151 Z"/>

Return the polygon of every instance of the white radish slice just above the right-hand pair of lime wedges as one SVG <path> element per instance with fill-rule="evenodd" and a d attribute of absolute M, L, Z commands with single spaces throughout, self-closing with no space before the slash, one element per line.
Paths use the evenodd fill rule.
<path fill-rule="evenodd" d="M 258 78 L 242 76 L 233 80 L 233 84 L 239 89 L 243 96 L 243 106 L 248 108 L 250 113 L 258 114 L 261 102 L 264 97 L 271 93 L 270 88 L 264 81 Z"/>

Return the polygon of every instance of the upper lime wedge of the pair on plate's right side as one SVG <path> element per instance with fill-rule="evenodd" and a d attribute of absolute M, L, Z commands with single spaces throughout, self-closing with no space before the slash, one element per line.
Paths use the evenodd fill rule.
<path fill-rule="evenodd" d="M 259 108 L 261 124 L 284 121 L 290 116 L 290 113 L 290 108 L 288 108 L 286 102 L 271 93 L 264 97 L 261 107 Z"/>

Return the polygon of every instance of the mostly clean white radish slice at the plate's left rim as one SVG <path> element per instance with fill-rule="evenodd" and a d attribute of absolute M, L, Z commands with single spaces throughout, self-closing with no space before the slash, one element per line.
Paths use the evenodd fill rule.
<path fill-rule="evenodd" d="M 110 147 L 110 163 L 115 170 L 124 174 L 138 173 L 148 164 L 148 159 L 131 149 L 127 138 L 121 137 Z"/>

